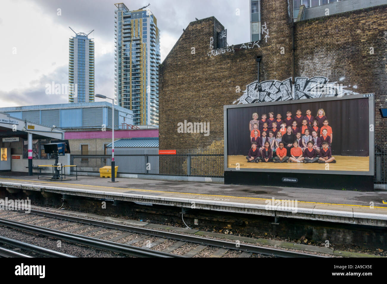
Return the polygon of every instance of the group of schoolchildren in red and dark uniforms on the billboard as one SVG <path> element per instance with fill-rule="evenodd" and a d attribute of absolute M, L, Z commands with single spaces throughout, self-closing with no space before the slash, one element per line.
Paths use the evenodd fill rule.
<path fill-rule="evenodd" d="M 262 114 L 260 120 L 253 113 L 247 162 L 336 163 L 331 152 L 332 128 L 324 109 L 319 109 L 316 117 L 310 109 L 305 116 L 301 113 L 298 109 L 292 117 L 288 111 L 284 120 L 279 113 L 277 119 L 274 112 L 269 112 L 269 118 Z"/>

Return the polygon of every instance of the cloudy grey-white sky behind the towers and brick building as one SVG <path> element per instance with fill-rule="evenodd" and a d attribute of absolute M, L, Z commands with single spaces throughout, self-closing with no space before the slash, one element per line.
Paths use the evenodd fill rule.
<path fill-rule="evenodd" d="M 150 1 L 123 3 L 135 10 Z M 45 91 L 51 82 L 68 83 L 68 39 L 74 36 L 69 26 L 76 32 L 94 29 L 90 36 L 95 43 L 95 93 L 113 97 L 114 3 L 120 1 L 2 0 L 0 106 L 68 102 L 67 94 Z M 153 0 L 150 8 L 161 30 L 161 61 L 195 17 L 215 16 L 228 30 L 230 45 L 250 40 L 249 0 Z"/>

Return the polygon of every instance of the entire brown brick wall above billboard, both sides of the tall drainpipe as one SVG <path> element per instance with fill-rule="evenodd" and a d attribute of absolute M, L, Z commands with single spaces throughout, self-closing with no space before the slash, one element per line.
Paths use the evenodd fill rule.
<path fill-rule="evenodd" d="M 291 77 L 288 1 L 262 0 L 261 11 L 270 37 L 266 42 L 263 36 L 259 47 L 238 44 L 212 56 L 210 38 L 216 49 L 215 31 L 223 29 L 215 17 L 191 22 L 185 29 L 159 68 L 160 149 L 223 147 L 223 105 L 241 96 L 236 86 L 243 92 L 257 80 L 256 56 L 262 56 L 261 82 Z M 386 26 L 387 5 L 296 22 L 295 76 L 344 78 L 339 83 L 355 92 L 374 92 L 376 110 L 385 107 Z M 210 122 L 210 135 L 178 133 L 184 120 Z M 378 111 L 375 121 L 376 143 L 386 143 L 385 120 Z"/>

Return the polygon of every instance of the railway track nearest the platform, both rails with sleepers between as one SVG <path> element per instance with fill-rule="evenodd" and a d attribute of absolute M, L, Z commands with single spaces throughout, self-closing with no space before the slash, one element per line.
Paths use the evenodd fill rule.
<path fill-rule="evenodd" d="M 166 231 L 159 231 L 159 230 L 153 230 L 153 229 L 147 229 L 147 228 L 141 228 L 141 227 L 135 227 L 135 226 L 128 226 L 123 224 L 109 223 L 104 221 L 79 218 L 79 217 L 74 217 L 69 215 L 46 212 L 46 211 L 31 210 L 31 213 L 29 213 L 29 215 L 31 214 L 35 216 L 40 216 L 33 219 L 39 220 L 40 218 L 47 218 L 47 220 L 37 222 L 37 223 L 43 224 L 41 226 L 26 224 L 26 223 L 23 223 L 22 221 L 24 219 L 28 221 L 31 218 L 28 218 L 28 216 L 25 213 L 13 211 L 12 214 L 7 214 L 7 216 L 4 216 L 5 214 L 1 214 L 1 217 L 3 218 L 0 218 L 0 225 L 22 230 L 22 231 L 27 231 L 30 233 L 45 235 L 45 236 L 57 238 L 60 240 L 67 240 L 70 242 L 80 243 L 91 247 L 111 250 L 113 252 L 125 253 L 128 255 L 133 255 L 137 257 L 182 257 L 181 255 L 172 254 L 171 252 L 188 243 L 195 244 L 195 247 L 192 248 L 192 250 L 185 253 L 183 257 L 192 257 L 197 253 L 200 253 L 201 251 L 203 251 L 205 248 L 209 248 L 209 247 L 217 248 L 217 251 L 214 253 L 214 255 L 212 255 L 212 257 L 221 257 L 222 255 L 224 255 L 229 251 L 242 251 L 240 257 L 250 257 L 252 256 L 252 254 L 259 254 L 259 255 L 271 256 L 271 257 L 324 257 L 321 255 L 313 255 L 309 253 L 294 252 L 294 251 L 281 250 L 276 248 L 259 247 L 259 246 L 247 245 L 243 243 L 236 244 L 231 241 L 214 240 L 211 238 L 204 238 L 199 236 L 184 235 L 184 234 L 171 233 Z M 17 221 L 10 220 L 10 218 L 15 218 Z M 56 222 L 54 222 L 55 220 Z M 76 234 L 76 230 L 70 230 L 75 232 L 75 233 L 70 233 L 66 231 L 59 231 L 59 230 L 54 230 L 52 228 L 49 228 L 50 225 L 44 225 L 45 223 L 48 223 L 48 222 L 53 224 L 53 226 L 58 226 L 58 224 L 61 224 L 63 222 L 75 222 L 77 224 L 86 224 L 86 226 L 79 227 L 78 231 L 82 231 L 82 233 Z M 45 228 L 42 228 L 43 226 Z M 91 230 L 87 230 L 88 227 Z M 138 234 L 139 236 L 134 240 L 128 241 L 124 244 L 116 242 L 116 241 L 119 241 L 120 236 L 111 238 L 111 240 L 101 240 L 100 239 L 101 235 L 98 236 L 99 238 L 82 236 L 85 234 L 84 230 L 86 230 L 86 234 L 87 234 L 87 232 L 91 233 L 98 230 L 107 230 L 107 229 L 113 230 L 111 232 L 114 232 L 114 233 L 121 232 L 122 234 L 120 236 L 122 236 L 122 238 L 130 236 L 132 234 Z M 110 235 L 111 234 L 112 233 L 110 233 Z M 102 235 L 104 236 L 109 235 L 109 232 L 104 233 Z M 144 241 L 150 237 L 157 237 L 158 239 L 152 242 L 149 242 L 147 246 L 143 246 L 143 247 L 132 246 L 133 244 L 139 241 Z M 152 247 L 156 247 L 157 245 L 163 243 L 166 240 L 173 240 L 175 243 L 173 243 L 173 245 L 171 245 L 170 247 L 164 248 L 164 250 L 161 252 L 150 249 Z"/>

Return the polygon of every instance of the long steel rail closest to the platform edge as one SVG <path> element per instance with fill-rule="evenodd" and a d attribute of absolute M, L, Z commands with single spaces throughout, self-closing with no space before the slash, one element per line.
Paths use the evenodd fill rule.
<path fill-rule="evenodd" d="M 313 255 L 313 254 L 309 254 L 309 253 L 293 252 L 293 251 L 289 251 L 289 250 L 280 250 L 280 249 L 276 249 L 276 248 L 259 247 L 259 246 L 255 246 L 255 245 L 247 245 L 247 244 L 242 244 L 242 243 L 238 243 L 238 247 L 237 247 L 236 246 L 237 243 L 233 243 L 231 241 L 213 240 L 210 238 L 203 238 L 203 237 L 198 237 L 198 236 L 190 236 L 190 235 L 183 235 L 183 234 L 178 234 L 178 233 L 170 233 L 170 232 L 165 232 L 165 231 L 139 228 L 139 227 L 135 227 L 135 226 L 109 223 L 109 222 L 86 219 L 86 218 L 79 218 L 79 217 L 74 217 L 74 216 L 69 216 L 69 215 L 64 215 L 64 214 L 38 211 L 38 210 L 33 210 L 33 209 L 31 209 L 31 214 L 36 214 L 36 215 L 46 216 L 46 217 L 51 217 L 51 218 L 57 218 L 57 219 L 64 219 L 67 221 L 74 221 L 74 222 L 83 223 L 83 224 L 90 224 L 90 225 L 94 225 L 94 226 L 101 226 L 101 227 L 110 228 L 110 229 L 131 231 L 134 233 L 146 234 L 146 235 L 151 235 L 151 236 L 159 236 L 162 238 L 169 238 L 169 239 L 173 239 L 173 240 L 188 241 L 191 243 L 199 243 L 202 245 L 210 245 L 210 246 L 214 246 L 214 247 L 228 248 L 231 250 L 241 250 L 241 251 L 245 251 L 245 252 L 259 253 L 262 255 L 274 255 L 277 257 L 324 257 L 325 258 L 325 256 L 322 256 L 322 255 Z"/>

